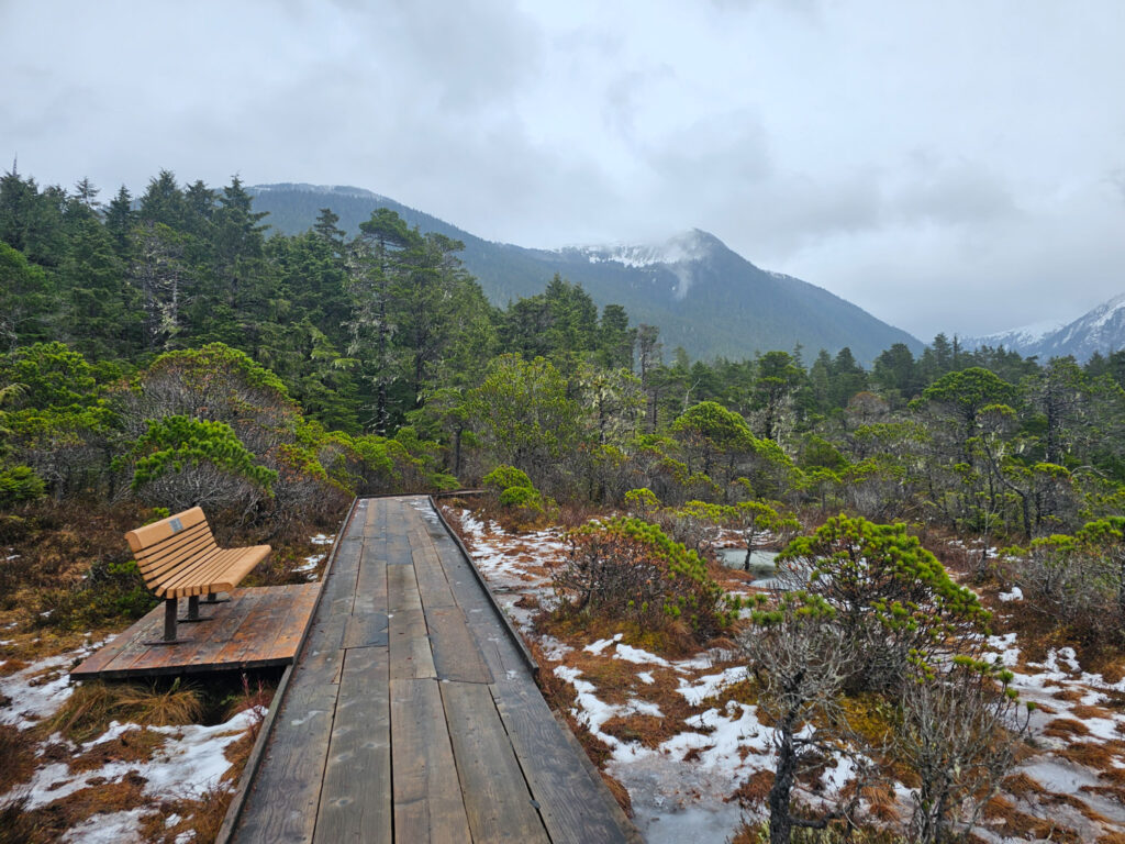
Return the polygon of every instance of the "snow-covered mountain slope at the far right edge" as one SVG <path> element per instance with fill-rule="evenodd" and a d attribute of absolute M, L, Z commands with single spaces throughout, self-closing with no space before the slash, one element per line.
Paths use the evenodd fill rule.
<path fill-rule="evenodd" d="M 1066 325 L 1043 323 L 982 338 L 965 338 L 962 345 L 966 349 L 1004 345 L 1024 357 L 1038 356 L 1041 360 L 1073 354 L 1076 360 L 1084 361 L 1096 351 L 1108 354 L 1125 349 L 1125 294 L 1104 302 Z"/>

